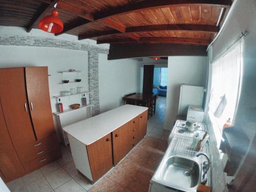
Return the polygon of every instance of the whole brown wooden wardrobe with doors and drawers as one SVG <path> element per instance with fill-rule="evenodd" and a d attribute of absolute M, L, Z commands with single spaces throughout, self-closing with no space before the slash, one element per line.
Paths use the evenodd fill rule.
<path fill-rule="evenodd" d="M 0 69 L 0 176 L 9 182 L 60 157 L 48 68 Z"/>

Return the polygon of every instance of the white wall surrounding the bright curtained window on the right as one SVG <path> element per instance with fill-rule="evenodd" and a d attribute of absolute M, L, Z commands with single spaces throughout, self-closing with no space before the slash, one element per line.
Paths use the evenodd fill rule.
<path fill-rule="evenodd" d="M 216 59 L 231 44 L 233 44 L 233 42 L 241 36 L 241 32 L 244 32 L 245 30 L 249 32 L 249 34 L 242 40 L 242 85 L 234 124 L 241 126 L 251 143 L 256 134 L 256 1 L 238 0 L 234 2 L 237 3 L 233 6 L 233 11 L 228 18 L 226 25 L 212 45 L 212 59 Z M 211 70 L 209 73 L 211 73 Z M 208 92 L 207 100 L 209 100 L 209 96 L 210 93 Z M 255 154 L 250 155 L 255 156 Z M 245 156 L 241 160 L 240 167 L 242 166 L 244 159 Z M 234 176 L 238 174 L 240 167 Z M 220 188 L 220 186 L 225 186 L 228 182 L 227 180 L 223 181 L 222 177 L 220 177 L 224 174 L 223 167 L 220 167 L 219 169 L 220 170 L 215 169 L 216 172 L 219 172 L 216 176 L 216 184 L 213 186 L 215 191 L 222 191 L 224 187 Z"/>

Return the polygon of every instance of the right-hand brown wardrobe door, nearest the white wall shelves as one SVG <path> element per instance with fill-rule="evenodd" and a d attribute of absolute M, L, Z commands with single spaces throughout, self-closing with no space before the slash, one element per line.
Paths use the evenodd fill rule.
<path fill-rule="evenodd" d="M 37 140 L 55 133 L 48 82 L 48 67 L 25 68 L 30 114 Z"/>

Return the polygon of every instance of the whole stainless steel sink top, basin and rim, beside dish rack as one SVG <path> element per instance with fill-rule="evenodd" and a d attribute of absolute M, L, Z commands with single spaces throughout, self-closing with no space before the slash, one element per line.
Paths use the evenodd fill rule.
<path fill-rule="evenodd" d="M 197 187 L 203 179 L 205 159 L 202 156 L 196 157 L 196 153 L 187 155 L 185 151 L 175 151 L 173 146 L 169 145 L 151 180 L 151 185 L 160 185 L 163 188 L 178 189 L 179 191 L 197 191 Z M 208 170 L 208 179 L 209 173 Z M 209 185 L 209 181 L 210 179 L 207 181 L 207 185 Z"/>

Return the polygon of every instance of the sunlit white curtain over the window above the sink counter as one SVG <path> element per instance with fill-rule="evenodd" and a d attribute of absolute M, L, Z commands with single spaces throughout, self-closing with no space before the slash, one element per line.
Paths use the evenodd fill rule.
<path fill-rule="evenodd" d="M 220 130 L 228 118 L 233 119 L 236 112 L 240 74 L 241 42 L 238 42 L 212 63 L 209 113 L 216 119 Z"/>

